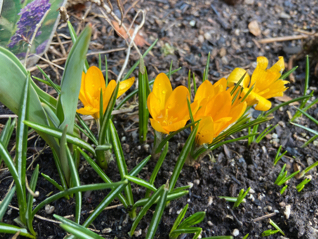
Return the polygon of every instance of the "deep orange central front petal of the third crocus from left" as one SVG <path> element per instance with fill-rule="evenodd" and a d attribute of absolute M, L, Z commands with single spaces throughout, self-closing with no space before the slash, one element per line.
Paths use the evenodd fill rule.
<path fill-rule="evenodd" d="M 213 97 L 207 104 L 209 110 L 206 115 L 213 118 L 213 121 L 228 116 L 232 105 L 232 96 L 228 91 L 222 91 Z"/>

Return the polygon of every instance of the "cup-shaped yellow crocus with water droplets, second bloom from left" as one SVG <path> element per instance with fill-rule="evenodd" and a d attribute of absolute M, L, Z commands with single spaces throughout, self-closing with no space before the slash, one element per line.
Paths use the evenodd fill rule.
<path fill-rule="evenodd" d="M 153 90 L 147 98 L 151 126 L 158 132 L 169 134 L 185 126 L 190 119 L 187 105 L 190 94 L 185 86 L 178 86 L 172 91 L 168 76 L 160 73 L 153 85 Z M 191 104 L 191 110 L 196 110 L 196 103 Z"/>

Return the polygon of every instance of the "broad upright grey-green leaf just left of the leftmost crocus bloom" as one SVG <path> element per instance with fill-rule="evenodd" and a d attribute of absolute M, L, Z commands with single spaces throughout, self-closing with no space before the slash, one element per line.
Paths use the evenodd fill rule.
<path fill-rule="evenodd" d="M 73 133 L 83 65 L 91 35 L 92 27 L 87 25 L 71 48 L 61 80 L 61 92 L 56 107 L 56 115 L 61 122 L 59 129 L 64 129 L 68 125 L 68 133 Z"/>

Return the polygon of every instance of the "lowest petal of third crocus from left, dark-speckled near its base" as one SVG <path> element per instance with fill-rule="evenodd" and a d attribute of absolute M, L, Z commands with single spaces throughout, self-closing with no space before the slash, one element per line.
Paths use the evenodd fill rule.
<path fill-rule="evenodd" d="M 202 145 L 204 143 L 212 143 L 214 138 L 214 123 L 210 116 L 204 116 L 199 122 L 196 135 L 196 143 Z"/>

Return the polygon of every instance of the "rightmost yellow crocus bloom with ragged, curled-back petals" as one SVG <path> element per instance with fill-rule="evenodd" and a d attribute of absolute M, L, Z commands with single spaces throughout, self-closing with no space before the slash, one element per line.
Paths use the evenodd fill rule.
<path fill-rule="evenodd" d="M 285 69 L 284 58 L 280 56 L 279 60 L 269 69 L 266 69 L 267 65 L 268 60 L 266 57 L 257 57 L 257 66 L 252 74 L 251 81 L 246 74 L 245 79 L 241 82 L 243 91 L 240 97 L 244 98 L 245 94 L 250 91 L 245 98 L 247 105 L 257 104 L 255 109 L 261 111 L 267 111 L 271 108 L 272 104 L 267 99 L 283 96 L 283 92 L 288 88 L 285 87 L 288 81 L 280 79 L 281 73 Z M 227 79 L 229 82 L 228 86 L 237 83 L 245 72 L 241 68 L 234 69 Z M 252 90 L 250 90 L 251 87 L 253 87 Z"/>

